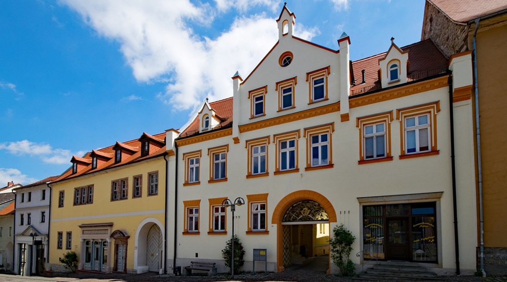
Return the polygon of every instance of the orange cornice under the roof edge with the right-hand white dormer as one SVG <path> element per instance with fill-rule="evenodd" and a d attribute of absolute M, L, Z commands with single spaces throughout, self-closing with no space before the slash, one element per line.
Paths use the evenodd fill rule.
<path fill-rule="evenodd" d="M 369 94 L 369 95 L 361 95 L 359 97 L 351 96 L 349 98 L 349 108 L 355 108 L 360 106 L 365 106 L 369 104 L 374 104 L 378 102 L 384 102 L 392 99 L 397 99 L 421 92 L 431 91 L 434 89 L 439 89 L 442 87 L 448 86 L 448 76 L 440 76 L 437 78 L 433 78 L 430 80 L 425 80 L 423 82 L 409 84 L 401 87 L 396 87 L 394 89 L 389 89 L 385 91 L 381 91 L 379 93 Z"/>

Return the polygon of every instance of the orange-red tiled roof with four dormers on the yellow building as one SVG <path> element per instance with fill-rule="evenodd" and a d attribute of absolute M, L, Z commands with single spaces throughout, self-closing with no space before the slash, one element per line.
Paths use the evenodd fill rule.
<path fill-rule="evenodd" d="M 143 136 L 148 137 L 148 134 L 143 133 Z M 161 142 L 164 145 L 161 148 L 157 149 L 156 151 L 150 152 L 150 154 L 148 154 L 147 156 L 141 157 L 141 150 L 140 150 L 141 142 L 139 141 L 139 139 L 133 139 L 133 140 L 126 141 L 126 142 L 116 142 L 114 145 L 111 145 L 111 146 L 108 146 L 108 147 L 105 147 L 102 149 L 92 150 L 91 152 L 86 153 L 83 157 L 73 156 L 73 159 L 79 160 L 81 163 L 87 164 L 86 167 L 84 169 L 81 169 L 80 171 L 78 171 L 78 173 L 75 173 L 75 174 L 72 173 L 72 167 L 70 167 L 53 182 L 62 181 L 65 179 L 71 179 L 71 178 L 75 178 L 75 177 L 78 177 L 81 175 L 95 173 L 98 171 L 104 171 L 104 170 L 107 170 L 107 169 L 110 169 L 113 167 L 119 167 L 119 166 L 123 166 L 126 164 L 132 164 L 132 163 L 144 160 L 144 159 L 148 159 L 148 158 L 152 158 L 152 157 L 161 156 L 161 155 L 166 154 L 165 141 L 164 141 L 165 132 L 158 133 L 155 135 L 149 135 L 149 138 L 150 139 L 153 138 L 153 140 L 155 140 L 156 142 L 159 142 L 159 143 Z M 122 158 L 122 161 L 120 163 L 115 164 L 115 159 L 114 159 L 115 149 L 114 148 L 116 146 L 120 146 L 126 150 L 129 150 L 133 154 L 129 157 Z M 108 159 L 107 162 L 103 163 L 100 166 L 97 166 L 96 169 L 92 169 L 92 156 L 91 156 L 92 152 L 95 155 L 103 156 L 103 157 L 107 158 Z"/>

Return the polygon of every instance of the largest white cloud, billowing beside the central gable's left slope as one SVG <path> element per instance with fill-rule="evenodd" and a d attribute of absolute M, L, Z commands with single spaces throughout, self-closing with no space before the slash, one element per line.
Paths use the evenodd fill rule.
<path fill-rule="evenodd" d="M 216 38 L 192 28 L 223 29 L 212 24 L 228 7 L 245 11 L 264 5 L 276 10 L 276 0 L 216 0 L 214 7 L 189 0 L 62 1 L 100 35 L 120 43 L 137 80 L 167 82 L 157 97 L 176 110 L 191 109 L 206 97 L 213 101 L 232 96 L 230 77 L 236 70 L 246 76 L 277 41 L 275 19 L 265 14 L 239 16 Z M 297 30 L 305 39 L 316 32 L 302 25 Z"/>

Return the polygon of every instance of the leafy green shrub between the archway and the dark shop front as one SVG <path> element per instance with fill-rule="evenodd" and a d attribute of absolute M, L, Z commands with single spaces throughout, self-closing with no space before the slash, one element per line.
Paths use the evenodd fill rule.
<path fill-rule="evenodd" d="M 329 240 L 331 259 L 340 268 L 343 276 L 352 276 L 355 273 L 355 265 L 349 259 L 354 241 L 355 236 L 343 224 L 333 228 L 333 238 Z"/>

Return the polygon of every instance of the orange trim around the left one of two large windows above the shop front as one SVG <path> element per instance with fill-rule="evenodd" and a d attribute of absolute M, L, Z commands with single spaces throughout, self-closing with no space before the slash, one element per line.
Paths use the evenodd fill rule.
<path fill-rule="evenodd" d="M 393 111 L 387 111 L 382 113 L 376 113 L 366 116 L 360 116 L 356 118 L 355 126 L 359 128 L 359 164 L 366 164 L 366 162 L 370 162 L 371 160 L 377 160 L 382 158 L 374 158 L 374 159 L 368 159 L 365 160 L 365 138 L 364 138 L 364 132 L 365 127 L 373 124 L 378 123 L 385 123 L 385 147 L 386 147 L 386 153 L 385 158 L 391 158 L 392 159 L 392 152 L 391 152 L 391 122 L 393 120 Z M 363 163 L 361 163 L 363 162 Z"/>

